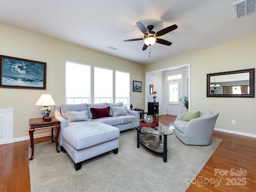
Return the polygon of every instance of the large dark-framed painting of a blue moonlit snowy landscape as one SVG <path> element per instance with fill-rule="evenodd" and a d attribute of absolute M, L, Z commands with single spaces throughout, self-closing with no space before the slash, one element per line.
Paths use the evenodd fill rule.
<path fill-rule="evenodd" d="M 2 88 L 46 89 L 46 63 L 0 55 Z"/>

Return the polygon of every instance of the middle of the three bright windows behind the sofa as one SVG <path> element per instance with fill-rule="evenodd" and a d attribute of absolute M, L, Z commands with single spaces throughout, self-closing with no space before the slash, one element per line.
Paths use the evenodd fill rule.
<path fill-rule="evenodd" d="M 112 102 L 113 70 L 94 67 L 94 103 Z"/>

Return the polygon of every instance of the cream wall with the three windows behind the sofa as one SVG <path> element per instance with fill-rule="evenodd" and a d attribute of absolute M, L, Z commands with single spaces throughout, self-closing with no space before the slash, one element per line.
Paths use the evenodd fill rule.
<path fill-rule="evenodd" d="M 90 64 L 92 72 L 95 65 L 130 72 L 130 102 L 134 107 L 144 106 L 144 98 L 141 98 L 145 83 L 142 64 L 4 24 L 0 24 L 0 54 L 47 63 L 46 90 L 0 88 L 0 108 L 14 108 L 14 138 L 28 136 L 29 119 L 42 116 L 41 107 L 35 105 L 42 94 L 51 94 L 57 105 L 65 103 L 66 60 Z M 132 92 L 133 80 L 142 82 L 142 93 Z M 54 107 L 50 107 L 53 115 Z M 35 134 L 48 131 L 37 131 Z"/>

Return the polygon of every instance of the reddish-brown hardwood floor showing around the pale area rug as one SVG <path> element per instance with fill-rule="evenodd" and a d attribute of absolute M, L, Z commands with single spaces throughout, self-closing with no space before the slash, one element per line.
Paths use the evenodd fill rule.
<path fill-rule="evenodd" d="M 175 116 L 160 115 L 154 120 L 171 126 L 175 118 Z M 214 131 L 213 137 L 220 138 L 223 142 L 194 182 L 184 178 L 184 183 L 192 182 L 187 192 L 255 191 L 256 138 L 219 131 Z M 50 140 L 50 136 L 36 138 L 34 143 Z M 0 145 L 0 192 L 30 192 L 29 145 L 30 140 Z M 225 171 L 228 171 L 226 175 L 222 175 Z M 232 176 L 234 172 L 236 172 L 236 175 Z"/>

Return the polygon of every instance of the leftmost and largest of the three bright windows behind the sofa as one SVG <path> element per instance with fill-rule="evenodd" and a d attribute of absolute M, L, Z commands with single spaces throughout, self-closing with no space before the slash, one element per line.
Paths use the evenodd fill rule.
<path fill-rule="evenodd" d="M 66 61 L 66 104 L 90 103 L 91 66 Z"/>

